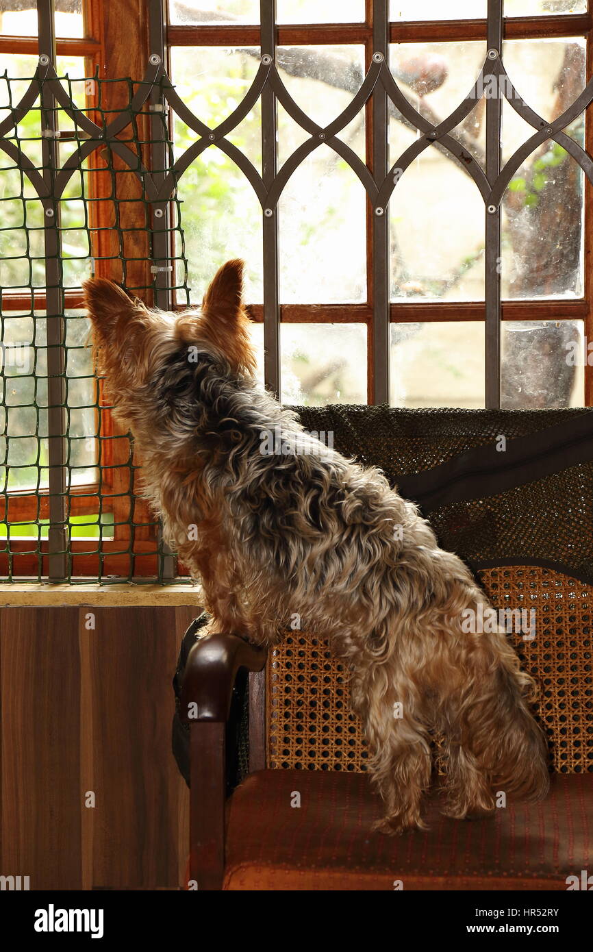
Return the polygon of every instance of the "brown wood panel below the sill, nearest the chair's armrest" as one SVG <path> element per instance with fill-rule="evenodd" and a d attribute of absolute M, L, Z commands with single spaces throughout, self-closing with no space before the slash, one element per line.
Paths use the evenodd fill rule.
<path fill-rule="evenodd" d="M 177 633 L 167 608 L 92 609 L 93 886 L 177 883 L 184 783 L 171 755 Z M 81 625 L 86 612 L 80 609 Z M 91 737 L 91 741 L 89 738 Z M 83 751 L 83 763 L 89 753 Z"/>

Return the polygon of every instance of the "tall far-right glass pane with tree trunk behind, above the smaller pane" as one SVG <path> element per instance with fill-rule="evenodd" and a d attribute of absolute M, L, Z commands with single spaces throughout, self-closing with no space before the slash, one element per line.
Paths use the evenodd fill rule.
<path fill-rule="evenodd" d="M 560 115 L 585 85 L 580 38 L 508 42 L 504 61 L 518 92 L 545 120 Z M 584 117 L 565 131 L 583 145 Z M 532 134 L 504 102 L 504 161 Z M 527 157 L 504 195 L 501 277 L 505 298 L 583 295 L 583 172 L 552 140 Z"/>

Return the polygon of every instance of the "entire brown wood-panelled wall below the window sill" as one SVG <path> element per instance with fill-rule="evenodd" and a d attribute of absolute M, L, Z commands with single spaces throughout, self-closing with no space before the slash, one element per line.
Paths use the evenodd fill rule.
<path fill-rule="evenodd" d="M 183 882 L 188 791 L 171 754 L 171 678 L 197 614 L 0 608 L 0 874 L 30 876 L 31 889 Z"/>

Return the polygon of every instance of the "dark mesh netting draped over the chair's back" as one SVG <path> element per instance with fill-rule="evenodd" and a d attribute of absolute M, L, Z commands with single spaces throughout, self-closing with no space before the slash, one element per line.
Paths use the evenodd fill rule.
<path fill-rule="evenodd" d="M 593 412 L 298 407 L 379 466 L 472 567 L 550 565 L 593 581 Z"/>

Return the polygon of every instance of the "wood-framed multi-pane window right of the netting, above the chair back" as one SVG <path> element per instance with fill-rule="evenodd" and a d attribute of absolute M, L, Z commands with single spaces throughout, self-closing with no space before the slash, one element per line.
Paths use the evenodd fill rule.
<path fill-rule="evenodd" d="M 486 0 L 392 0 L 387 9 L 363 0 L 277 0 L 275 6 L 274 21 L 272 5 L 262 5 L 260 23 L 255 2 L 169 3 L 173 82 L 212 129 L 254 81 L 264 49 L 260 29 L 275 38 L 275 47 L 268 43 L 266 49 L 306 117 L 290 114 L 282 91 L 276 90 L 275 115 L 273 104 L 257 100 L 227 139 L 258 173 L 262 109 L 268 109 L 268 127 L 275 119 L 264 150 L 270 149 L 266 139 L 277 135 L 282 179 L 295 150 L 347 109 L 375 52 L 385 55 L 404 102 L 385 104 L 378 84 L 336 134 L 350 150 L 346 156 L 327 142 L 307 152 L 273 209 L 276 235 L 232 157 L 216 145 L 203 152 L 179 184 L 190 286 L 203 286 L 223 249 L 243 254 L 253 316 L 261 321 L 267 255 L 268 287 L 277 296 L 272 300 L 268 291 L 267 381 L 276 387 L 280 378 L 287 403 L 357 403 L 365 390 L 371 401 L 402 407 L 590 403 L 591 374 L 583 360 L 589 288 L 581 167 L 558 137 L 534 145 L 487 226 L 476 181 L 487 163 L 488 175 L 496 177 L 499 140 L 504 167 L 534 134 L 526 107 L 537 113 L 539 129 L 540 116 L 551 123 L 583 92 L 591 26 L 586 4 L 506 0 L 502 10 Z M 504 42 L 497 46 L 503 12 Z M 484 19 L 476 21 L 476 15 Z M 493 46 L 502 52 L 510 102 L 503 82 L 503 98 L 498 91 L 492 97 L 483 82 L 473 108 L 450 129 L 448 148 L 441 136 L 428 145 L 426 131 L 465 100 L 484 60 L 492 62 L 486 52 Z M 317 125 L 307 127 L 307 117 Z M 495 131 L 486 148 L 488 123 Z M 584 146 L 583 111 L 564 131 Z M 183 123 L 175 123 L 174 141 L 178 155 L 192 141 Z M 353 170 L 356 160 L 382 181 L 416 144 L 422 149 L 378 217 L 372 188 L 365 189 Z M 485 267 L 487 255 L 494 267 Z M 281 315 L 277 335 L 275 311 Z M 261 327 L 254 337 L 263 347 Z M 567 364 L 572 354 L 574 363 Z"/>

